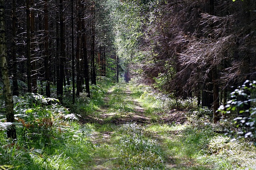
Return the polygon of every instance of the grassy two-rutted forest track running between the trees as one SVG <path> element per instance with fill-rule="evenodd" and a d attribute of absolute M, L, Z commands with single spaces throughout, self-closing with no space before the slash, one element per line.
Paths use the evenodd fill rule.
<path fill-rule="evenodd" d="M 170 128 L 164 121 L 166 115 L 158 112 L 158 108 L 146 107 L 140 100 L 141 94 L 129 86 L 118 84 L 110 88 L 104 95 L 104 105 L 89 116 L 93 120 L 89 124 L 94 129 L 91 138 L 94 150 L 92 160 L 84 165 L 84 169 L 178 170 L 197 167 L 192 158 L 172 155 L 173 150 L 182 145 L 177 137 L 183 127 Z"/>

